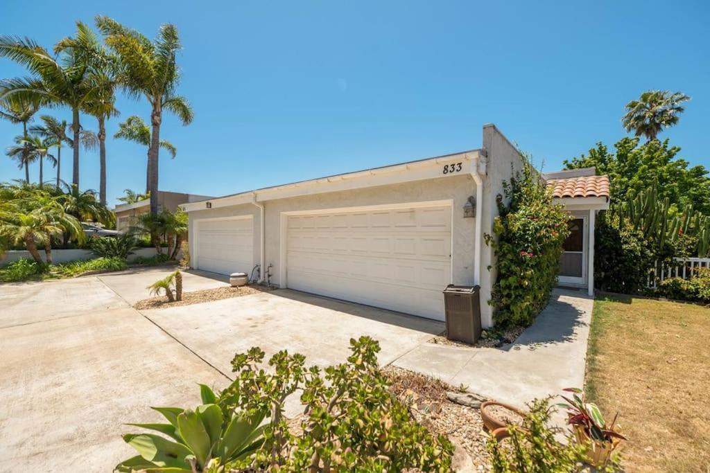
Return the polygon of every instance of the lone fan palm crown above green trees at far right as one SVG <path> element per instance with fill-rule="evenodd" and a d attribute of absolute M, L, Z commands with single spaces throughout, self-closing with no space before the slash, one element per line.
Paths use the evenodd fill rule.
<path fill-rule="evenodd" d="M 638 100 L 626 104 L 626 115 L 621 118 L 626 131 L 636 136 L 644 135 L 647 140 L 655 140 L 663 128 L 678 123 L 685 108 L 681 105 L 690 97 L 682 92 L 650 90 L 641 94 Z"/>

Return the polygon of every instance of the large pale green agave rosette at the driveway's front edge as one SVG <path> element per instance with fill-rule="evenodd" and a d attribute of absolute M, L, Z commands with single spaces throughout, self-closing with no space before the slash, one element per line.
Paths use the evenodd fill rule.
<path fill-rule="evenodd" d="M 209 386 L 200 384 L 202 404 L 194 410 L 153 407 L 168 423 L 131 423 L 163 434 L 128 433 L 138 455 L 116 465 L 116 472 L 204 473 L 249 457 L 263 444 L 266 411 L 223 411 Z"/>

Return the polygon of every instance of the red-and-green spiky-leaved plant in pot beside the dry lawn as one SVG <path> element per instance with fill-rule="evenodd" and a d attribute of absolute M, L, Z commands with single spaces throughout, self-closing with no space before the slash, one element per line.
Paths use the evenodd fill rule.
<path fill-rule="evenodd" d="M 620 441 L 626 440 L 616 424 L 618 413 L 611 423 L 606 423 L 599 407 L 586 402 L 581 389 L 567 388 L 563 391 L 572 393 L 572 399 L 561 396 L 567 402 L 555 405 L 567 409 L 567 423 L 574 428 L 579 443 L 589 443 L 589 462 L 595 466 L 606 464 Z"/>

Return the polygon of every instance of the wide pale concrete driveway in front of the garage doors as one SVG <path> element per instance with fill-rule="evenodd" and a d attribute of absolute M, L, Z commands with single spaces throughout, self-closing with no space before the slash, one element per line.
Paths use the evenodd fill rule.
<path fill-rule="evenodd" d="M 349 339 L 380 341 L 402 357 L 442 323 L 278 290 L 204 304 L 136 311 L 170 269 L 0 285 L 0 471 L 111 471 L 133 455 L 127 422 L 155 422 L 148 406 L 195 406 L 197 383 L 230 382 L 235 352 L 301 352 L 342 362 Z M 186 291 L 226 284 L 185 273 Z"/>

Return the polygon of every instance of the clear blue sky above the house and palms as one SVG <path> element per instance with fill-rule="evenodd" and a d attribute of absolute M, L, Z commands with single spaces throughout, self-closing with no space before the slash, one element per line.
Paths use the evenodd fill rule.
<path fill-rule="evenodd" d="M 705 1 L 6 0 L 0 33 L 51 47 L 97 13 L 150 38 L 160 23 L 180 30 L 195 122 L 163 121 L 178 147 L 175 160 L 161 153 L 164 190 L 231 194 L 479 148 L 486 122 L 557 169 L 621 138 L 623 105 L 645 89 L 692 96 L 664 136 L 710 167 Z M 0 77 L 21 74 L 0 60 Z M 146 102 L 118 106 L 109 135 L 133 113 L 148 121 Z M 0 145 L 19 132 L 0 123 Z M 107 156 L 109 203 L 143 189 L 146 150 L 111 139 Z M 0 180 L 22 176 L 0 156 Z M 82 155 L 81 183 L 98 189 L 95 152 Z"/>

